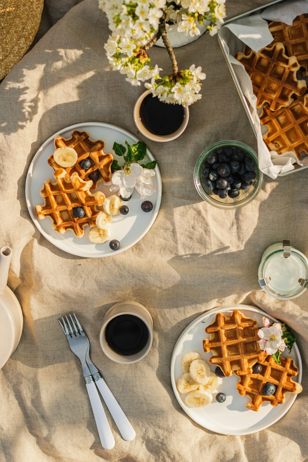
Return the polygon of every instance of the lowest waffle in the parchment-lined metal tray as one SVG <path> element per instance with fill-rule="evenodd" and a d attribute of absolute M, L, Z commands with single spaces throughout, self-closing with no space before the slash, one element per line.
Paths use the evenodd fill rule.
<path fill-rule="evenodd" d="M 302 151 L 308 154 L 308 95 L 275 112 L 268 105 L 263 106 L 260 122 L 268 128 L 263 140 L 271 151 L 293 151 L 298 158 Z"/>

